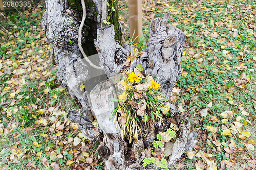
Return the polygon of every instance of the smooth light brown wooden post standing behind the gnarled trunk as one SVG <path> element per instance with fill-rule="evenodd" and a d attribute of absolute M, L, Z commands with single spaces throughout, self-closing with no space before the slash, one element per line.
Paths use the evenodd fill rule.
<path fill-rule="evenodd" d="M 137 43 L 139 42 L 140 37 L 143 35 L 142 34 L 142 1 L 129 0 L 128 7 L 129 7 L 130 38 L 133 38 L 132 40 L 134 40 L 134 42 Z"/>

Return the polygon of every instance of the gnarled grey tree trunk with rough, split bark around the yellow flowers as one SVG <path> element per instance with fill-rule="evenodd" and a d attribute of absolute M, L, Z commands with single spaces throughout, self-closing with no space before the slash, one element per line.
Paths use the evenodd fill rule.
<path fill-rule="evenodd" d="M 71 8 L 72 2 L 76 1 L 46 1 L 47 9 L 42 20 L 49 42 L 55 51 L 58 79 L 82 105 L 79 111 L 68 110 L 69 120 L 77 123 L 82 133 L 90 140 L 101 141 L 98 153 L 105 160 L 105 169 L 144 169 L 141 165 L 146 156 L 144 152 L 148 144 L 155 139 L 156 133 L 153 131 L 129 145 L 121 139 L 120 128 L 117 126 L 116 129 L 116 125 L 109 120 L 115 109 L 114 102 L 109 101 L 109 98 L 114 98 L 112 93 L 116 88 L 113 85 L 114 79 L 126 68 L 123 63 L 126 56 L 133 56 L 134 46 L 129 47 L 124 44 L 122 47 L 115 41 L 113 25 L 100 28 L 103 26 L 102 17 L 105 17 L 105 14 L 102 13 L 102 10 L 106 8 L 105 0 L 86 0 L 85 2 L 93 3 L 91 7 L 97 11 L 97 15 L 92 16 L 87 10 L 87 16 L 92 16 L 95 19 L 97 28 L 97 32 L 94 33 L 94 44 L 98 55 L 94 55 L 90 60 L 94 60 L 92 62 L 96 65 L 99 63 L 104 70 L 91 67 L 84 61 L 78 47 L 78 28 L 81 20 L 79 16 L 81 14 L 79 14 L 79 5 L 76 6 L 77 10 Z M 133 69 L 139 62 L 142 63 L 143 70 L 147 74 L 157 77 L 159 83 L 163 85 L 160 90 L 167 98 L 170 89 L 180 79 L 180 58 L 185 39 L 185 35 L 179 29 L 172 25 L 166 26 L 168 17 L 169 13 L 162 21 L 160 18 L 152 21 L 147 52 L 132 61 L 129 68 Z M 93 26 L 92 28 L 95 29 Z M 88 38 L 86 31 L 83 38 Z M 177 140 L 173 143 L 173 152 L 168 158 L 168 165 L 173 164 L 184 152 L 191 150 L 196 142 L 194 140 L 195 133 L 190 132 L 190 123 L 185 115 L 176 110 L 174 106 L 172 106 L 170 114 L 175 117 L 180 130 L 177 132 Z M 93 124 L 95 118 L 97 126 Z M 161 130 L 164 131 L 159 128 L 158 132 Z M 136 160 L 129 158 L 131 152 L 135 155 Z M 155 167 L 154 165 L 147 166 L 146 169 L 155 169 Z"/>

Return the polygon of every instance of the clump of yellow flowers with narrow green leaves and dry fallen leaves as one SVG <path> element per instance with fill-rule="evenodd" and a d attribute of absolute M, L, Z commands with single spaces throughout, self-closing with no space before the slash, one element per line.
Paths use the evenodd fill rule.
<path fill-rule="evenodd" d="M 170 116 L 168 100 L 158 91 L 159 82 L 150 75 L 143 75 L 137 68 L 134 70 L 126 71 L 117 83 L 121 88 L 121 92 L 117 92 L 118 99 L 110 99 L 118 102 L 110 120 L 113 117 L 113 122 L 118 120 L 122 137 L 126 136 L 130 142 L 133 138 L 138 140 L 139 135 L 146 135 L 144 131 L 154 128 L 154 123 L 161 126 L 163 117 Z"/>

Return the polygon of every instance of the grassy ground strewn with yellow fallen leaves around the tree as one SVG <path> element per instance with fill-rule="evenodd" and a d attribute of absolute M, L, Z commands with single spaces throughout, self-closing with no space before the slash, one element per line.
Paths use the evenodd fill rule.
<path fill-rule="evenodd" d="M 131 43 L 127 0 L 119 4 L 124 41 Z M 99 143 L 67 119 L 68 108 L 80 106 L 57 82 L 40 23 L 43 9 L 40 4 L 0 14 L 0 168 L 103 169 Z M 187 36 L 181 80 L 169 100 L 198 133 L 194 150 L 170 169 L 253 169 L 256 3 L 143 1 L 141 49 L 152 19 L 162 19 L 168 11 L 169 23 Z"/>

